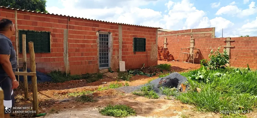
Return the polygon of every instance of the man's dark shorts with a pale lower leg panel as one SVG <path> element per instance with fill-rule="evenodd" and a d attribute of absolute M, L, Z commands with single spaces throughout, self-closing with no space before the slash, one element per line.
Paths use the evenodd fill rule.
<path fill-rule="evenodd" d="M 0 87 L 4 91 L 4 114 L 11 113 L 14 105 L 14 94 L 10 77 L 0 77 Z"/>

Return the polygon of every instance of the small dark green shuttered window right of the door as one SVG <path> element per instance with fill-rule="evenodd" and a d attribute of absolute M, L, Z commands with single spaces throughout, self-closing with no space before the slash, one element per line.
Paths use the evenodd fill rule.
<path fill-rule="evenodd" d="M 145 38 L 133 38 L 133 51 L 145 51 Z"/>

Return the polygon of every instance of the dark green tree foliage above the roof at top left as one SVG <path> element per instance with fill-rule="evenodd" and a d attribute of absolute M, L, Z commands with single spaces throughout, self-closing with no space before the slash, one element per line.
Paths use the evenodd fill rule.
<path fill-rule="evenodd" d="M 0 0 L 0 6 L 48 12 L 45 9 L 46 0 Z"/>

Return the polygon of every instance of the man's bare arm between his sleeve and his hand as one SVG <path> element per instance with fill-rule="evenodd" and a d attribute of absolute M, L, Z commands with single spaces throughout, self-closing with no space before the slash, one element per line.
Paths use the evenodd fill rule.
<path fill-rule="evenodd" d="M 13 80 L 16 79 L 13 70 L 12 70 L 12 64 L 10 62 L 10 55 L 8 54 L 0 54 L 0 64 L 2 65 L 4 71 L 8 76 Z"/>

